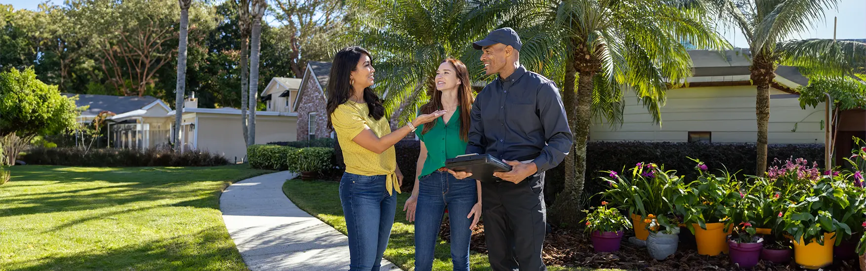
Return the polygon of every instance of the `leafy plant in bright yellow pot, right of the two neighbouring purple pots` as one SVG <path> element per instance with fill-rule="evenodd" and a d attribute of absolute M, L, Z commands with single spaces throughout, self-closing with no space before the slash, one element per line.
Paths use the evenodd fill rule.
<path fill-rule="evenodd" d="M 805 268 L 824 268 L 833 262 L 833 246 L 841 236 L 851 234 L 848 225 L 833 217 L 830 210 L 848 205 L 842 188 L 832 176 L 824 176 L 811 189 L 792 200 L 782 219 L 794 243 L 794 261 Z"/>

